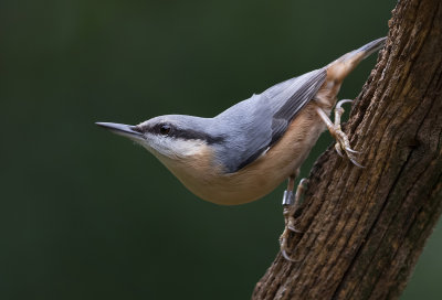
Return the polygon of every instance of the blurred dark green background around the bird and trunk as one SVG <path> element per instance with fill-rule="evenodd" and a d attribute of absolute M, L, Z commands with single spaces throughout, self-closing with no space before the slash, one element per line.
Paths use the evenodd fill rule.
<path fill-rule="evenodd" d="M 242 206 L 202 202 L 94 121 L 213 116 L 385 35 L 393 7 L 1 1 L 0 298 L 248 299 L 278 249 L 282 186 Z M 402 299 L 440 299 L 441 249 L 439 228 Z"/>

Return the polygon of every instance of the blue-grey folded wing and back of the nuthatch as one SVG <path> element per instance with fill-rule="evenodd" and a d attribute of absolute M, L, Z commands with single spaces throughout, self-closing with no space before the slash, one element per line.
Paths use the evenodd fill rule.
<path fill-rule="evenodd" d="M 325 78 L 325 68 L 312 71 L 276 84 L 218 115 L 214 118 L 218 127 L 213 131 L 227 139 L 217 148 L 225 171 L 236 172 L 277 142 L 296 114 L 314 98 Z"/>

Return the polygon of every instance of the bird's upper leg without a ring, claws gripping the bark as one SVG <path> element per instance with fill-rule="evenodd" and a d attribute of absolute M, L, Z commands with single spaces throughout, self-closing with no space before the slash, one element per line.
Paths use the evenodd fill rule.
<path fill-rule="evenodd" d="M 350 142 L 346 133 L 344 133 L 343 129 L 340 128 L 340 117 L 344 114 L 343 104 L 351 103 L 352 100 L 345 99 L 337 103 L 335 107 L 335 122 L 328 118 L 327 114 L 320 108 L 316 107 L 316 113 L 326 124 L 328 131 L 330 131 L 332 136 L 336 139 L 335 150 L 336 152 L 344 158 L 344 153 L 347 158 L 357 167 L 364 168 L 359 162 L 355 159 L 355 153 L 359 153 L 350 148 Z M 343 153 L 344 152 L 344 153 Z"/>

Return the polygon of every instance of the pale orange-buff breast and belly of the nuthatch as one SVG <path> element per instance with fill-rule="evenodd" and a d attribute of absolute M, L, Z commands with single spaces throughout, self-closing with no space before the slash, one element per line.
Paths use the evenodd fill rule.
<path fill-rule="evenodd" d="M 162 162 L 199 197 L 221 205 L 243 204 L 269 194 L 294 174 L 324 129 L 325 125 L 315 113 L 314 104 L 308 104 L 275 146 L 236 173 L 224 174 L 212 165 L 201 167 L 204 158 L 200 158 L 198 163 L 187 162 L 186 165 Z"/>

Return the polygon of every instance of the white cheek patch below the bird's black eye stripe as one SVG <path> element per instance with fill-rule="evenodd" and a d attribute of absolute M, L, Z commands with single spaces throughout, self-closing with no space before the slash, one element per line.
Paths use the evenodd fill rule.
<path fill-rule="evenodd" d="M 207 143 L 202 140 L 183 140 L 147 133 L 141 144 L 147 150 L 168 158 L 183 158 L 200 153 Z"/>

